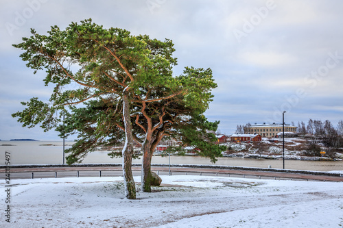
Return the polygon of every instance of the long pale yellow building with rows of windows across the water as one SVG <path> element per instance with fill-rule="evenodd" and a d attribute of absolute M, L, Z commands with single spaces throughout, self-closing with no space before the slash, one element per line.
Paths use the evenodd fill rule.
<path fill-rule="evenodd" d="M 279 133 L 281 133 L 282 136 L 282 123 L 272 123 L 272 124 L 257 124 L 255 125 L 250 125 L 248 127 L 244 127 L 244 134 L 259 134 L 262 137 L 276 137 Z M 286 125 L 285 124 L 285 136 L 286 133 L 294 133 L 296 134 L 296 127 L 293 125 Z"/>

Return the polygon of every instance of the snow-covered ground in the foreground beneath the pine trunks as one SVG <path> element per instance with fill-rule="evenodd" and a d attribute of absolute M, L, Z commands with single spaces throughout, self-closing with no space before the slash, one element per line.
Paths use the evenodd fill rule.
<path fill-rule="evenodd" d="M 343 226 L 343 183 L 161 177 L 137 200 L 123 199 L 121 177 L 12 180 L 11 223 L 2 204 L 0 227 Z"/>

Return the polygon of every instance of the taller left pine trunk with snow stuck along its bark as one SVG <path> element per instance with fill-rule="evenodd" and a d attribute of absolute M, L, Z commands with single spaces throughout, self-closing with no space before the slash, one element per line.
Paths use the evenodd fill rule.
<path fill-rule="evenodd" d="M 133 137 L 130 121 L 128 92 L 123 92 L 123 121 L 125 124 L 125 145 L 123 147 L 123 177 L 126 199 L 136 199 L 136 186 L 132 175 Z"/>

